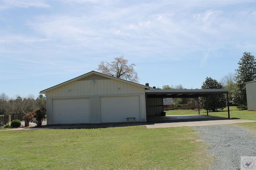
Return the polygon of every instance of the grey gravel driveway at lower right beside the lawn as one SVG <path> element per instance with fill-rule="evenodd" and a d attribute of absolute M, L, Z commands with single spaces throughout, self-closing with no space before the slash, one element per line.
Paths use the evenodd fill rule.
<path fill-rule="evenodd" d="M 236 125 L 192 127 L 213 156 L 211 170 L 240 170 L 241 156 L 256 156 L 256 133 Z"/>

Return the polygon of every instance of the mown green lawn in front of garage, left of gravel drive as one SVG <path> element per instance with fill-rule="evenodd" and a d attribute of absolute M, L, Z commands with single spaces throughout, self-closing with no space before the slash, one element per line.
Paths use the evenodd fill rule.
<path fill-rule="evenodd" d="M 0 131 L 0 169 L 205 170 L 210 159 L 188 127 Z"/>

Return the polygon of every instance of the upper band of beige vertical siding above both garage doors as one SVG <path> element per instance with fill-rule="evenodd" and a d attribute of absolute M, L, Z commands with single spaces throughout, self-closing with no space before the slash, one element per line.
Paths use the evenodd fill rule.
<path fill-rule="evenodd" d="M 70 91 L 69 91 L 70 90 Z M 120 94 L 144 94 L 143 87 L 118 80 L 80 80 L 70 82 L 47 92 L 47 97 L 109 96 Z"/>

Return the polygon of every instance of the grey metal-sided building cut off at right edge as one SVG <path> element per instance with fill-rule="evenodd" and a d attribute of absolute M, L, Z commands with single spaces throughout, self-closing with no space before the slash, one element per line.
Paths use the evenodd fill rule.
<path fill-rule="evenodd" d="M 245 83 L 248 110 L 256 111 L 256 80 Z"/>

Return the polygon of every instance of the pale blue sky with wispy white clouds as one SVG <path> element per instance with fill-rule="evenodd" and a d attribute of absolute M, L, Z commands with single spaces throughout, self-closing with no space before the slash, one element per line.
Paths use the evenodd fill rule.
<path fill-rule="evenodd" d="M 0 94 L 39 92 L 121 55 L 140 84 L 201 88 L 256 55 L 255 0 L 0 0 Z"/>

